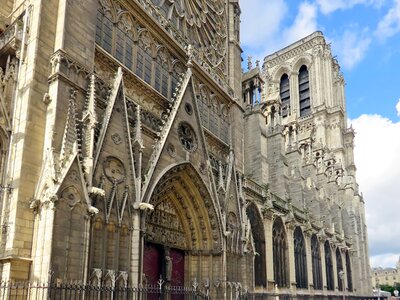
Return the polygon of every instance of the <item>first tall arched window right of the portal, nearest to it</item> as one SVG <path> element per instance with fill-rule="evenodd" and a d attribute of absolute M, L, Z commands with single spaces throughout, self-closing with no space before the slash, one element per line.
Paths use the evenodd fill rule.
<path fill-rule="evenodd" d="M 264 226 L 261 216 L 254 204 L 249 205 L 247 208 L 247 216 L 250 220 L 251 234 L 253 235 L 255 251 L 257 252 L 254 258 L 254 283 L 256 286 L 266 287 Z"/>

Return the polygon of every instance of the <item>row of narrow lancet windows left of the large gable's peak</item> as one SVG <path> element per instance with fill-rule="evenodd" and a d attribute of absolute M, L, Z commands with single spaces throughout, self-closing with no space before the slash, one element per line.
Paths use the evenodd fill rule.
<path fill-rule="evenodd" d="M 172 97 L 185 71 L 131 15 L 117 14 L 113 7 L 97 13 L 96 43 L 167 98 Z M 172 68 L 173 62 L 179 67 Z"/>

